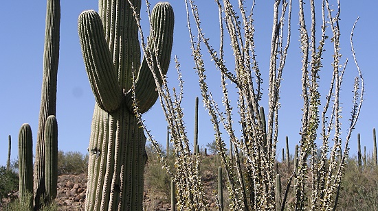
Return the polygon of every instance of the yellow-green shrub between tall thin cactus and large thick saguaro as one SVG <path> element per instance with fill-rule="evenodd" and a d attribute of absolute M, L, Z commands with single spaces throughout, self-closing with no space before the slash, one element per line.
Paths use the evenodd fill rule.
<path fill-rule="evenodd" d="M 83 155 L 79 151 L 58 151 L 58 173 L 87 173 L 88 159 L 88 154 Z"/>

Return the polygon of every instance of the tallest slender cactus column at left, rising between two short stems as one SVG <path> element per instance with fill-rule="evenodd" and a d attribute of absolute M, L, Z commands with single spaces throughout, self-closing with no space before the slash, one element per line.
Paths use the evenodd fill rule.
<path fill-rule="evenodd" d="M 45 194 L 45 123 L 56 115 L 56 81 L 59 62 L 60 0 L 48 0 L 46 12 L 45 50 L 43 53 L 43 81 L 39 111 L 36 160 L 34 162 L 34 206 L 38 209 Z"/>

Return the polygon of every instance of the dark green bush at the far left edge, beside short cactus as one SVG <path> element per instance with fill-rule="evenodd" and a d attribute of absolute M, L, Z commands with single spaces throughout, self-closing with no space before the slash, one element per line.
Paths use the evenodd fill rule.
<path fill-rule="evenodd" d="M 19 175 L 12 169 L 7 171 L 5 166 L 0 166 L 0 198 L 8 197 L 17 190 L 19 190 Z"/>

